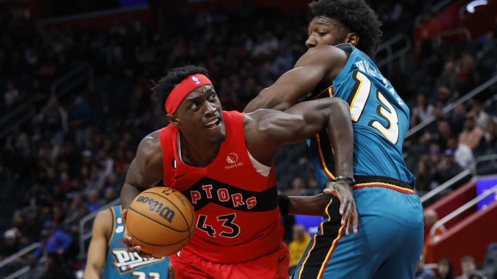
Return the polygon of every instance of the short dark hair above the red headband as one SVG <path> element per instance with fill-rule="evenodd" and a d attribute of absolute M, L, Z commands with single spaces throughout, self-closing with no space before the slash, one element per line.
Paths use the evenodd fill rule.
<path fill-rule="evenodd" d="M 209 77 L 208 70 L 206 68 L 188 65 L 170 70 L 166 76 L 160 79 L 159 82 L 152 87 L 152 97 L 155 99 L 157 105 L 162 108 L 162 110 L 164 110 L 164 105 L 169 93 L 173 91 L 174 87 L 178 85 L 178 83 L 182 82 L 192 74 L 204 74 L 204 76 Z"/>

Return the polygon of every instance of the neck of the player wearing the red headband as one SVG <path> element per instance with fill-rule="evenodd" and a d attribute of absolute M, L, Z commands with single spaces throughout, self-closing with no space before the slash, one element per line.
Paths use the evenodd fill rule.
<path fill-rule="evenodd" d="M 214 161 L 221 147 L 221 143 L 208 143 L 202 138 L 186 138 L 181 132 L 179 143 L 183 162 L 194 167 L 206 167 Z"/>

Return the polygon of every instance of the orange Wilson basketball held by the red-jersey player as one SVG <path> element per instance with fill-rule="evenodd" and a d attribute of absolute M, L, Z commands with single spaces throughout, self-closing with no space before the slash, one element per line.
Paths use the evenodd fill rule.
<path fill-rule="evenodd" d="M 154 187 L 140 193 L 126 216 L 133 244 L 153 256 L 168 256 L 181 250 L 195 231 L 195 210 L 175 189 Z"/>

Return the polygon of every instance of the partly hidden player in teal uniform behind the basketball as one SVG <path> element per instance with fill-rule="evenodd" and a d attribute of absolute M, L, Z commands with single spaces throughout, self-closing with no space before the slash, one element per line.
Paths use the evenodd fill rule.
<path fill-rule="evenodd" d="M 88 248 L 88 260 L 84 279 L 166 279 L 169 259 L 142 258 L 136 252 L 128 252 L 121 242 L 124 223 L 121 205 L 100 211 L 93 223 L 92 240 Z"/>

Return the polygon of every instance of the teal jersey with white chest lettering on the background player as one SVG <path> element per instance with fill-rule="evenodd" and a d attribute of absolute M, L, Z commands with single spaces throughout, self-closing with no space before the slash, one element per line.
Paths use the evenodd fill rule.
<path fill-rule="evenodd" d="M 124 223 L 121 205 L 110 208 L 113 215 L 113 232 L 107 248 L 106 266 L 102 279 L 166 279 L 168 278 L 169 259 L 163 257 L 142 258 L 137 253 L 128 252 L 122 243 Z"/>

